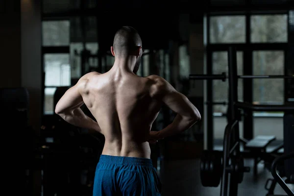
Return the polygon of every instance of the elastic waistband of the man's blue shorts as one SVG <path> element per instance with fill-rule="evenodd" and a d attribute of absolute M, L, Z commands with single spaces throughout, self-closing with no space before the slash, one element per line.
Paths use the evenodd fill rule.
<path fill-rule="evenodd" d="M 123 164 L 123 165 L 138 165 L 138 166 L 153 166 L 151 159 L 139 157 L 111 156 L 101 154 L 99 163 L 107 164 Z"/>

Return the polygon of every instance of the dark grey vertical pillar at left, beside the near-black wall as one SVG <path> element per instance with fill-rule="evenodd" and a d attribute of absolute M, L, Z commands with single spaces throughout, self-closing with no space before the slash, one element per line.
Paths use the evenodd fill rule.
<path fill-rule="evenodd" d="M 42 60 L 41 2 L 21 1 L 21 83 L 29 92 L 29 124 L 41 126 Z"/>

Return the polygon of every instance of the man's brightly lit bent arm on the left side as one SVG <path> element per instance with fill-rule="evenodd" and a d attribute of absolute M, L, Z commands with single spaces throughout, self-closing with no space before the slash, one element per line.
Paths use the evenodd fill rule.
<path fill-rule="evenodd" d="M 85 80 L 87 79 L 83 76 L 76 85 L 66 91 L 57 102 L 55 113 L 74 126 L 100 132 L 101 129 L 98 123 L 85 115 L 80 108 L 80 106 L 84 104 L 83 98 L 80 94 L 80 88 L 81 85 L 84 85 L 83 83 L 86 82 Z"/>

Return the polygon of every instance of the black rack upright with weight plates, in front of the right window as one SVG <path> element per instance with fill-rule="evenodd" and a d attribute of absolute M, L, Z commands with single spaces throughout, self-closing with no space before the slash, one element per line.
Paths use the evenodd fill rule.
<path fill-rule="evenodd" d="M 217 158 L 215 151 L 204 151 L 201 157 L 201 183 L 205 186 L 218 186 L 218 175 L 221 173 L 221 196 L 238 195 L 238 184 L 242 182 L 244 172 L 249 172 L 250 169 L 244 166 L 244 160 L 240 152 L 240 142 L 243 142 L 239 136 L 239 120 L 238 115 L 240 109 L 251 111 L 293 111 L 294 105 L 255 105 L 246 102 L 238 102 L 238 76 L 237 76 L 237 59 L 236 49 L 229 47 L 228 49 L 228 67 L 229 67 L 229 104 L 228 104 L 228 124 L 225 127 L 223 138 L 223 154 L 222 164 L 220 166 L 220 159 Z M 253 78 L 253 76 L 250 76 Z M 261 78 L 261 76 L 258 76 Z M 267 76 L 269 78 L 270 76 Z M 281 76 L 283 78 L 288 78 Z M 239 76 L 239 78 L 242 78 Z M 213 79 L 210 77 L 209 79 Z M 219 78 L 218 78 L 219 79 Z M 264 138 L 265 139 L 265 138 Z M 273 138 L 267 138 L 268 141 Z M 265 145 L 268 141 L 262 141 Z M 256 142 L 256 140 L 255 140 Z M 254 142 L 251 142 L 251 144 Z M 249 144 L 250 145 L 250 144 Z M 262 146 L 262 145 L 261 145 Z M 217 165 L 216 165 L 217 164 Z M 222 172 L 217 171 L 221 168 Z M 209 174 L 215 174 L 213 179 Z M 203 175 L 207 174 L 206 177 Z M 229 175 L 230 174 L 230 175 Z M 208 179 L 211 182 L 208 182 Z M 229 186 L 229 190 L 228 190 Z"/>

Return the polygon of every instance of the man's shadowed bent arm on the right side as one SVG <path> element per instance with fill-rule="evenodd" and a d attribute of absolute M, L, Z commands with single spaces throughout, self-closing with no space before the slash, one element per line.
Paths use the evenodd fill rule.
<path fill-rule="evenodd" d="M 152 87 L 151 96 L 160 99 L 177 114 L 170 125 L 153 133 L 154 139 L 162 139 L 185 131 L 201 119 L 199 111 L 186 96 L 176 91 L 162 77 L 152 77 L 155 80 L 155 84 Z"/>

